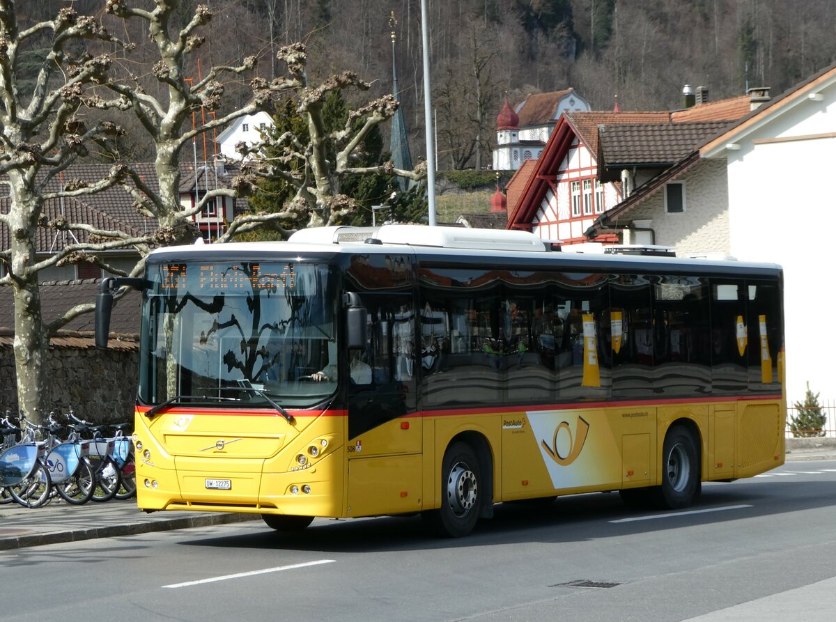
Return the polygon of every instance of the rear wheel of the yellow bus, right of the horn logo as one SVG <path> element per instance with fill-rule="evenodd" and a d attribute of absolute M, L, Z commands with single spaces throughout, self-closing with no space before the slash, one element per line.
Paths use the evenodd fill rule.
<path fill-rule="evenodd" d="M 694 436 L 685 426 L 675 426 L 662 447 L 660 502 L 672 510 L 688 507 L 700 492 L 700 460 Z"/>

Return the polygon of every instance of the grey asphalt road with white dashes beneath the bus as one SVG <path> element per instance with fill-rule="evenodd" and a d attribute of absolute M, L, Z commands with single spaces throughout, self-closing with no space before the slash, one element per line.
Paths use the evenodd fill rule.
<path fill-rule="evenodd" d="M 834 577 L 836 461 L 809 461 L 706 484 L 686 512 L 497 506 L 457 540 L 381 517 L 0 552 L 0 619 L 830 620 Z"/>

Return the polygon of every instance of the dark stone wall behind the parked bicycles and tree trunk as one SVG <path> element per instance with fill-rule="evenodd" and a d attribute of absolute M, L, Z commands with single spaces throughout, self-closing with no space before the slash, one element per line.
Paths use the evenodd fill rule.
<path fill-rule="evenodd" d="M 56 342 L 58 344 L 56 344 Z M 93 339 L 54 339 L 48 354 L 48 405 L 58 413 L 72 408 L 94 423 L 134 421 L 139 352 L 132 341 L 96 349 Z M 14 353 L 10 339 L 0 339 L 0 411 L 18 411 Z M 63 421 L 63 417 L 56 417 Z"/>

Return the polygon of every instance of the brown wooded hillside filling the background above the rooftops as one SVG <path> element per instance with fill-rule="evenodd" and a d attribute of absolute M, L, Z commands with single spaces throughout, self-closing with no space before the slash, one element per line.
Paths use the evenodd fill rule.
<path fill-rule="evenodd" d="M 286 71 L 278 48 L 304 41 L 312 80 L 351 69 L 372 82 L 360 94 L 368 99 L 391 91 L 394 51 L 413 159 L 425 153 L 420 2 L 191 0 L 183 3 L 183 23 L 171 28 L 185 24 L 200 3 L 214 13 L 201 33 L 203 67 L 255 55 L 256 74 L 273 79 Z M 104 14 L 104 0 L 18 1 L 18 13 L 35 22 L 69 4 L 108 28 L 117 25 Z M 135 4 L 154 7 L 153 0 Z M 710 99 L 750 86 L 768 86 L 774 96 L 836 59 L 833 0 L 427 0 L 427 6 L 440 170 L 490 165 L 505 99 L 516 103 L 571 86 L 593 110 L 612 110 L 616 101 L 621 110 L 672 110 L 684 84 L 705 86 Z M 164 97 L 151 63 L 143 65 L 145 51 L 147 59 L 155 51 L 142 21 L 118 28 L 136 48 L 121 63 L 124 53 L 114 50 L 115 70 L 138 75 L 148 92 Z M 29 54 L 34 76 L 42 57 L 37 48 Z M 191 63 L 187 70 L 198 79 L 201 66 Z M 23 64 L 19 77 L 26 73 Z M 247 103 L 251 78 L 225 84 L 225 109 Z M 129 129 L 123 154 L 149 159 L 143 133 L 130 132 L 128 115 L 119 121 Z"/>

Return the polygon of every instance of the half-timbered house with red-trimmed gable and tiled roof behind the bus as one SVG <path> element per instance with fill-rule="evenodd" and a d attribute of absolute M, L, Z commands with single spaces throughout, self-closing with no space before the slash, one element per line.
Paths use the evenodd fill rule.
<path fill-rule="evenodd" d="M 588 242 L 594 222 L 747 115 L 753 103 L 752 95 L 718 102 L 707 101 L 704 89 L 702 95 L 696 105 L 673 112 L 563 114 L 538 160 L 508 183 L 507 227 L 564 244 Z M 668 189 L 670 201 L 676 190 Z M 645 224 L 601 230 L 596 241 L 660 243 Z"/>

